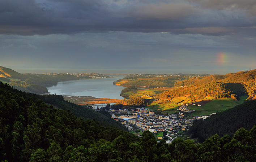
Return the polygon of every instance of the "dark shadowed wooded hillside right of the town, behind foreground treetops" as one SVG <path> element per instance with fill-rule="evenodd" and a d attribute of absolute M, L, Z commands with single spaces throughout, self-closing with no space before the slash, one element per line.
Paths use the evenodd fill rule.
<path fill-rule="evenodd" d="M 220 137 L 233 136 L 239 128 L 250 130 L 256 125 L 256 101 L 248 100 L 234 108 L 218 112 L 206 120 L 194 121 L 189 128 L 192 138 L 198 138 L 200 142 L 214 134 Z"/>

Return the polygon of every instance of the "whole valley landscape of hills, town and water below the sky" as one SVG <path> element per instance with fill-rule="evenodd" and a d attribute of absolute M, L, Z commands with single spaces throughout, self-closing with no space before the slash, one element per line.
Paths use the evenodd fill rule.
<path fill-rule="evenodd" d="M 159 157 L 159 161 L 163 159 L 161 156 L 169 156 L 167 161 L 176 162 L 179 161 L 175 154 L 179 151 L 177 146 L 186 148 L 180 153 L 182 156 L 191 153 L 191 160 L 184 158 L 184 161 L 196 161 L 204 155 L 202 150 L 208 149 L 209 143 L 211 146 L 221 143 L 216 147 L 222 150 L 234 149 L 231 144 L 235 143 L 242 148 L 240 157 L 252 160 L 247 154 L 253 154 L 256 141 L 256 101 L 253 100 L 256 70 L 220 76 L 183 76 L 184 79 L 175 82 L 169 80 L 173 82 L 169 84 L 171 87 L 161 87 L 170 77 L 165 75 L 137 78 L 146 82 L 133 78 L 132 82 L 140 85 L 121 87 L 112 84 L 121 78 L 65 80 L 70 75 L 56 74 L 63 80 L 48 87 L 50 95 L 28 93 L 18 86 L 13 89 L 7 81 L 17 81 L 30 90 L 35 84 L 17 77 L 23 75 L 2 73 L 5 82 L 0 82 L 0 153 L 8 161 L 16 158 L 26 161 L 26 157 L 30 161 L 35 157 L 52 159 L 51 152 L 56 149 L 59 159 L 77 159 L 72 155 L 80 155 L 90 161 L 96 158 L 94 150 L 98 149 L 116 160 Z M 153 82 L 155 87 L 148 86 Z M 103 103 L 107 106 L 97 110 L 88 106 Z M 241 136 L 250 140 L 244 143 Z M 150 154 L 154 156 L 144 151 L 149 143 L 152 144 Z M 134 148 L 138 152 L 132 152 Z M 243 148 L 250 149 L 245 152 Z M 97 161 L 104 159 L 100 152 L 96 155 Z M 226 161 L 221 155 L 219 158 Z"/>

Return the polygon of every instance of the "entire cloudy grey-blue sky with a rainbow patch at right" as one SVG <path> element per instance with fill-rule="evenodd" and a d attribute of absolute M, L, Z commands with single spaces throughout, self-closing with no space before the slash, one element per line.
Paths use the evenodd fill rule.
<path fill-rule="evenodd" d="M 256 0 L 1 0 L 0 66 L 19 73 L 256 69 Z"/>

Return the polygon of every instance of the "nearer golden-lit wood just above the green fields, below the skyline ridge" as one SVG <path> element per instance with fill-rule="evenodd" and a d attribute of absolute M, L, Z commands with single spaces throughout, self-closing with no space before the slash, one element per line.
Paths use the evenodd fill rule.
<path fill-rule="evenodd" d="M 238 100 L 238 96 L 247 95 L 247 93 L 246 87 L 241 83 L 210 82 L 163 92 L 157 97 L 167 99 L 185 95 L 197 95 L 199 99 L 211 96 L 216 98 L 231 97 Z"/>

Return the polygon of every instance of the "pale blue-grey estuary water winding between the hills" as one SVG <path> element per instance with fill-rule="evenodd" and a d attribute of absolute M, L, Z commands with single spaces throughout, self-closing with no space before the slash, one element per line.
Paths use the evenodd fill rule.
<path fill-rule="evenodd" d="M 81 79 L 58 82 L 56 86 L 47 87 L 48 92 L 56 95 L 93 96 L 96 98 L 123 99 L 120 96 L 125 87 L 113 84 L 115 80 L 123 79 L 125 75 L 110 75 L 114 78 Z"/>

